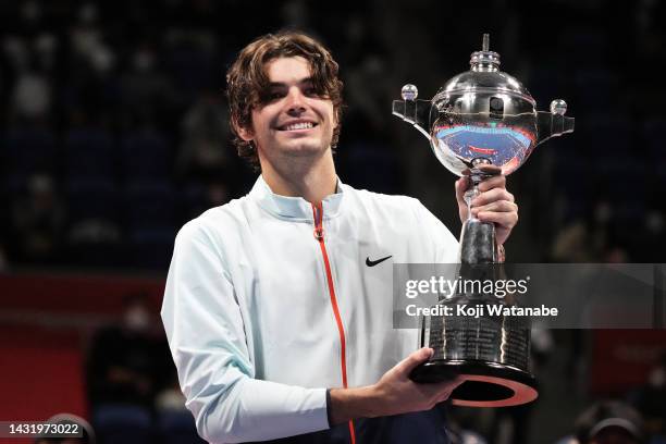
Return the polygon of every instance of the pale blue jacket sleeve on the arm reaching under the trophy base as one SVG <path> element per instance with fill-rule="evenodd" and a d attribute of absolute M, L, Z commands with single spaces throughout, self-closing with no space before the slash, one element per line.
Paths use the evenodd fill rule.
<path fill-rule="evenodd" d="M 161 316 L 205 440 L 264 441 L 329 428 L 325 388 L 255 379 L 225 258 L 197 220 L 176 236 Z"/>

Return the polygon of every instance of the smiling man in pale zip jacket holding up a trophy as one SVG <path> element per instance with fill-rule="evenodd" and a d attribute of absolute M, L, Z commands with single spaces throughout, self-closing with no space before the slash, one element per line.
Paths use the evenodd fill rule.
<path fill-rule="evenodd" d="M 446 443 L 434 408 L 459 381 L 416 384 L 429 359 L 393 329 L 392 262 L 458 261 L 418 200 L 356 190 L 335 174 L 337 64 L 300 34 L 268 35 L 227 74 L 245 197 L 178 233 L 162 319 L 201 436 L 213 443 Z M 456 184 L 460 217 L 464 181 Z M 504 243 L 518 219 L 505 181 L 473 212 Z M 291 436 L 291 437 L 286 437 Z"/>

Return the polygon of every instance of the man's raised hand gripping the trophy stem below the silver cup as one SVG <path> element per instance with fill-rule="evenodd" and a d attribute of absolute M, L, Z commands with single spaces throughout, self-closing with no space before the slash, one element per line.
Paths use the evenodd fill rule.
<path fill-rule="evenodd" d="M 499 174 L 498 166 L 480 165 L 479 169 L 496 175 L 488 177 L 479 184 L 481 194 L 471 201 L 472 215 L 483 222 L 494 222 L 497 245 L 503 245 L 518 223 L 518 206 L 514 201 L 514 195 L 506 190 L 506 176 Z M 464 196 L 470 186 L 471 181 L 467 176 L 456 181 L 456 200 L 458 201 L 458 212 L 462 223 L 468 218 Z"/>

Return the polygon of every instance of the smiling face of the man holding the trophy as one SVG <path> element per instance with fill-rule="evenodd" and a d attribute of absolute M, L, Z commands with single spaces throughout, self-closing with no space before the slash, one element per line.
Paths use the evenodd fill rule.
<path fill-rule="evenodd" d="M 271 60 L 266 73 L 270 84 L 252 109 L 251 128 L 238 128 L 257 146 L 262 169 L 267 162 L 280 168 L 294 158 L 330 156 L 337 125 L 333 102 L 313 86 L 306 59 Z"/>

